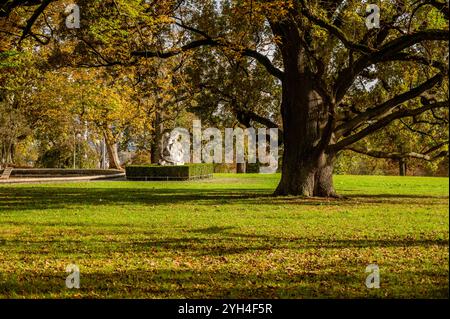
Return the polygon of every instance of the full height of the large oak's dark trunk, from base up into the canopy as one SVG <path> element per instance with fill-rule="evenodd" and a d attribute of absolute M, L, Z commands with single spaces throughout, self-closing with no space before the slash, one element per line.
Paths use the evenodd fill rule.
<path fill-rule="evenodd" d="M 285 69 L 281 104 L 284 154 L 275 195 L 335 196 L 335 156 L 321 149 L 329 107 L 315 90 L 298 29 L 289 21 L 272 24 L 272 29 L 282 39 Z"/>

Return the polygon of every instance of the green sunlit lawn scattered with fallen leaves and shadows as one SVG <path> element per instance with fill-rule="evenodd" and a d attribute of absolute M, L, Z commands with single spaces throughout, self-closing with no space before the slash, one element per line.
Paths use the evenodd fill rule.
<path fill-rule="evenodd" d="M 278 179 L 0 186 L 0 298 L 448 298 L 448 178 L 336 176 L 338 200 Z"/>

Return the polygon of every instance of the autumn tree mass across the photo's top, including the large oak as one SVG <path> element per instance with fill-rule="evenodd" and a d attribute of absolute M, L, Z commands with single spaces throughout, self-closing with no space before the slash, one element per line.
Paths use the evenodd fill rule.
<path fill-rule="evenodd" d="M 378 3 L 371 30 L 361 1 L 80 0 L 80 29 L 69 3 L 0 7 L 4 164 L 70 167 L 84 145 L 97 165 L 100 140 L 111 168 L 148 161 L 196 117 L 279 127 L 279 194 L 332 196 L 333 170 L 447 172 L 446 2 Z"/>

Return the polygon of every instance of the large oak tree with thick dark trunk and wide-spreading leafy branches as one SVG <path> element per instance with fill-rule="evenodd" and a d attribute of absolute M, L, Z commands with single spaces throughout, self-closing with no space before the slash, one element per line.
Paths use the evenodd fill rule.
<path fill-rule="evenodd" d="M 23 37 L 51 1 L 36 2 Z M 97 24 L 79 34 L 99 65 L 170 59 L 208 47 L 253 59 L 276 77 L 284 134 L 278 195 L 335 196 L 339 152 L 399 120 L 448 117 L 444 1 L 377 3 L 380 28 L 371 29 L 362 1 L 78 2 L 90 14 L 86 23 L 96 24 L 95 15 L 108 17 L 97 20 L 100 29 Z M 404 85 L 404 76 L 389 69 L 418 71 Z M 373 98 L 360 99 L 361 90 Z"/>

